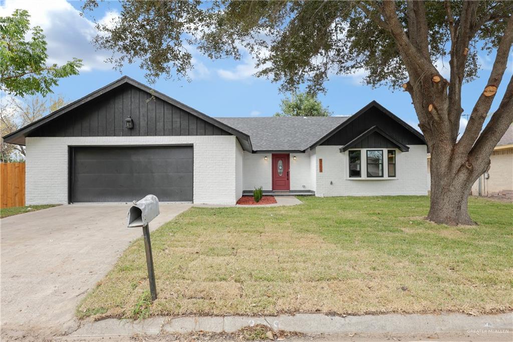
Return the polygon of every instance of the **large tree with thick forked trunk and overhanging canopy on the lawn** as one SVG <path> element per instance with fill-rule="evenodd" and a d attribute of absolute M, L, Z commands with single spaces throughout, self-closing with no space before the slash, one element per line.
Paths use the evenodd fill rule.
<path fill-rule="evenodd" d="M 95 0 L 86 9 L 97 6 Z M 467 200 L 473 182 L 513 121 L 513 79 L 486 127 L 513 42 L 513 2 L 503 1 L 123 1 L 121 16 L 97 46 L 117 61 L 141 61 L 152 81 L 192 67 L 185 48 L 210 58 L 240 58 L 244 48 L 262 67 L 257 75 L 293 91 L 323 91 L 332 73 L 365 70 L 367 84 L 409 92 L 431 152 L 428 219 L 473 224 Z M 478 50 L 495 53 L 487 87 L 459 138 L 462 84 L 477 76 Z M 435 67 L 449 59 L 450 78 Z M 459 139 L 458 139 L 459 138 Z"/>

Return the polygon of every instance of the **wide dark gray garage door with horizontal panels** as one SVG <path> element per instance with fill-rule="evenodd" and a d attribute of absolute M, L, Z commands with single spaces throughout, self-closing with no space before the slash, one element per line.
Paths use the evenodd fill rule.
<path fill-rule="evenodd" d="M 73 147 L 70 202 L 192 201 L 192 146 Z"/>

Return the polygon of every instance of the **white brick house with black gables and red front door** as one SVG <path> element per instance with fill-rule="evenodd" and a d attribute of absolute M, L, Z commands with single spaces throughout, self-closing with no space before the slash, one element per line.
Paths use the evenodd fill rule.
<path fill-rule="evenodd" d="M 351 117 L 214 119 L 123 77 L 4 139 L 27 146 L 27 204 L 427 194 L 424 137 L 374 101 Z"/>

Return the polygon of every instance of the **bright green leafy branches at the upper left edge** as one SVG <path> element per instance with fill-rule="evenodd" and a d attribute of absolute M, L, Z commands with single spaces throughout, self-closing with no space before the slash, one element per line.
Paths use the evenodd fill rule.
<path fill-rule="evenodd" d="M 47 65 L 45 35 L 39 26 L 30 28 L 29 18 L 26 10 L 0 17 L 0 90 L 13 96 L 46 96 L 59 79 L 78 74 L 82 60 Z"/>

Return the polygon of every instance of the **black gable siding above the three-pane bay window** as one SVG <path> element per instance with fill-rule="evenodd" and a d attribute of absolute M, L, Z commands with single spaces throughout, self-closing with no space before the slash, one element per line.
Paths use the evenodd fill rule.
<path fill-rule="evenodd" d="M 360 136 L 363 132 L 372 126 L 378 126 L 385 131 L 390 137 L 396 139 L 404 145 L 425 145 L 418 136 L 413 134 L 403 125 L 393 120 L 381 110 L 376 107 L 371 107 L 366 112 L 362 113 L 358 118 L 352 120 L 347 126 L 342 127 L 339 131 L 333 134 L 331 137 L 326 139 L 320 145 L 324 146 L 335 146 L 345 145 L 354 138 Z M 372 147 L 383 147 L 392 148 L 392 144 L 385 139 L 383 136 L 376 134 L 369 135 L 362 139 L 354 147 L 356 148 L 372 148 Z"/>

